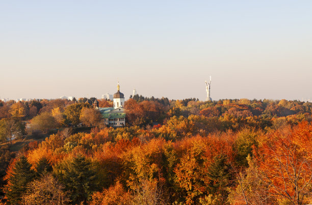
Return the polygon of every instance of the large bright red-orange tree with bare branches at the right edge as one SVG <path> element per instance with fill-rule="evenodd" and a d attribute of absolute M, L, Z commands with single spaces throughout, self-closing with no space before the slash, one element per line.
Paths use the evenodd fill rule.
<path fill-rule="evenodd" d="M 284 203 L 311 203 L 312 125 L 273 131 L 260 143 L 255 161 L 268 194 Z"/>

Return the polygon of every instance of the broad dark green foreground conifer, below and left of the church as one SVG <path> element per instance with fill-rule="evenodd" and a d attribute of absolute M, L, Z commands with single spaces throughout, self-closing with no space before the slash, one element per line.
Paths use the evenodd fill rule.
<path fill-rule="evenodd" d="M 97 187 L 95 171 L 91 161 L 78 155 L 72 161 L 56 167 L 58 179 L 65 185 L 73 204 L 86 204 Z"/>

